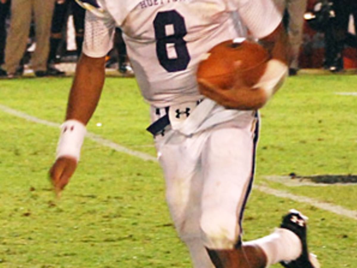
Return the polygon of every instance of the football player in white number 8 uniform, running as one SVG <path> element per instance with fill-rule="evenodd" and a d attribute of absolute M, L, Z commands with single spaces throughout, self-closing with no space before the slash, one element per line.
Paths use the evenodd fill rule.
<path fill-rule="evenodd" d="M 81 0 L 86 13 L 83 54 L 77 65 L 62 124 L 55 190 L 69 182 L 100 98 L 105 55 L 115 27 L 123 33 L 137 83 L 151 105 L 166 199 L 176 230 L 190 250 L 193 267 L 312 268 L 306 218 L 293 210 L 267 237 L 242 242 L 241 221 L 252 188 L 259 132 L 257 109 L 287 73 L 281 14 L 271 0 Z M 221 90 L 200 80 L 196 70 L 208 50 L 237 32 L 233 16 L 270 51 L 258 84 L 239 78 Z M 208 97 L 207 97 L 208 96 Z"/>

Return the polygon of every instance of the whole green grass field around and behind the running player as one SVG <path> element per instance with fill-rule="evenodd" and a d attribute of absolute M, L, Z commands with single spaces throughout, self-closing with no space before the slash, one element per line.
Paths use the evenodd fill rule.
<path fill-rule="evenodd" d="M 59 130 L 49 122 L 64 119 L 70 83 L 0 80 L 0 267 L 191 267 L 155 160 L 86 139 L 76 174 L 62 198 L 54 198 L 47 170 Z M 288 184 L 290 173 L 357 174 L 357 96 L 345 94 L 356 92 L 356 84 L 356 75 L 289 78 L 261 110 L 245 240 L 269 234 L 288 209 L 297 208 L 310 217 L 309 244 L 322 267 L 357 267 L 357 184 Z M 145 131 L 148 112 L 134 79 L 108 78 L 88 129 L 155 157 Z M 282 179 L 270 179 L 275 177 Z"/>

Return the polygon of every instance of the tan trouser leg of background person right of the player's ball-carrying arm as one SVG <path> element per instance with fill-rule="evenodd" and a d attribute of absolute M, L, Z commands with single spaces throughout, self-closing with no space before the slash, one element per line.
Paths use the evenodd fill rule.
<path fill-rule="evenodd" d="M 284 14 L 283 22 L 289 35 L 291 64 L 289 75 L 296 75 L 299 69 L 299 53 L 302 44 L 304 14 L 307 0 L 274 0 Z"/>

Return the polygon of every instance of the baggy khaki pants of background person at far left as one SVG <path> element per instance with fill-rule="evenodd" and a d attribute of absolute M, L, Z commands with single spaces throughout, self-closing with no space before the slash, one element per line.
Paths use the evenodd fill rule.
<path fill-rule="evenodd" d="M 12 0 L 9 34 L 5 46 L 5 70 L 14 74 L 24 55 L 32 15 L 35 21 L 36 49 L 32 69 L 45 71 L 50 46 L 50 30 L 55 0 Z"/>

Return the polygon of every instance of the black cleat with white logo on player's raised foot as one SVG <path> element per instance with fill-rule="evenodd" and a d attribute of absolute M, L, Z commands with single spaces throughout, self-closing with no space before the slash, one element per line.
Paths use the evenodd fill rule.
<path fill-rule="evenodd" d="M 301 241 L 302 253 L 296 260 L 290 262 L 280 262 L 287 268 L 320 268 L 320 264 L 314 254 L 309 254 L 307 250 L 307 217 L 295 209 L 283 217 L 280 228 L 285 228 L 295 233 Z"/>

